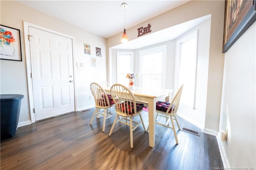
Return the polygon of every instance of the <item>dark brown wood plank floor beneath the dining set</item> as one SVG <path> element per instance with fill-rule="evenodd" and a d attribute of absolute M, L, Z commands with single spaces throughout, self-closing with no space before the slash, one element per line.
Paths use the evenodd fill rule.
<path fill-rule="evenodd" d="M 130 148 L 129 127 L 117 124 L 108 136 L 114 117 L 94 118 L 91 111 L 74 112 L 19 127 L 13 138 L 1 141 L 1 170 L 211 170 L 223 167 L 216 136 L 200 132 L 179 119 L 181 127 L 200 132 L 200 136 L 179 130 L 176 144 L 172 129 L 156 125 L 155 147 L 148 142 L 142 125 L 134 130 Z M 148 126 L 148 112 L 143 112 Z M 137 119 L 135 117 L 134 119 Z"/>

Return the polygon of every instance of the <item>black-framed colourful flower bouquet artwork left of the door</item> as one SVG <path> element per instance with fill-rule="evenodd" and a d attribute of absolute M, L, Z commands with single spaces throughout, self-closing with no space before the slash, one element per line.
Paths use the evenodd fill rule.
<path fill-rule="evenodd" d="M 20 30 L 0 25 L 0 59 L 22 61 Z"/>

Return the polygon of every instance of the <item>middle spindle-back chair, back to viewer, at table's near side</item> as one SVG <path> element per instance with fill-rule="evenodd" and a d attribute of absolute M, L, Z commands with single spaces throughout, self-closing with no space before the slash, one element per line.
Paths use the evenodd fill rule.
<path fill-rule="evenodd" d="M 133 130 L 135 130 L 140 124 L 142 124 L 144 131 L 146 132 L 146 128 L 140 114 L 143 110 L 142 108 L 144 107 L 144 104 L 136 103 L 135 97 L 130 89 L 121 84 L 112 85 L 112 87 L 110 88 L 110 93 L 114 98 L 114 103 L 116 107 L 116 118 L 109 132 L 109 136 L 112 134 L 116 123 L 120 122 L 124 125 L 128 125 L 130 126 L 130 144 L 131 148 L 133 148 Z M 133 117 L 137 115 L 140 116 L 140 121 L 133 121 Z M 119 120 L 117 120 L 117 118 L 119 118 Z"/>

